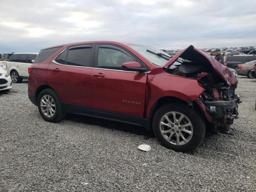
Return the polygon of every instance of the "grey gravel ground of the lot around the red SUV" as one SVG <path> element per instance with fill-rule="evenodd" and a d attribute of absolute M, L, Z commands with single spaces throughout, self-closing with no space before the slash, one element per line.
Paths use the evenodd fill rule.
<path fill-rule="evenodd" d="M 77 115 L 46 122 L 27 82 L 14 84 L 0 93 L 0 192 L 256 191 L 255 85 L 239 76 L 235 136 L 207 133 L 184 154 L 136 126 Z"/>

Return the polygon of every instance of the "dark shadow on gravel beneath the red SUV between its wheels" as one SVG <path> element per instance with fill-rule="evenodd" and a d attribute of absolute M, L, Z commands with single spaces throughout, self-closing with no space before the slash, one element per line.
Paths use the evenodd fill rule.
<path fill-rule="evenodd" d="M 153 131 L 147 131 L 143 127 L 126 124 L 126 123 L 105 120 L 105 119 L 100 119 L 100 118 L 93 118 L 93 117 L 88 117 L 88 116 L 82 116 L 82 115 L 77 115 L 77 114 L 67 114 L 65 119 L 74 121 L 74 122 L 78 122 L 78 123 L 102 126 L 104 128 L 110 129 L 111 131 L 119 130 L 119 131 L 129 132 L 131 134 L 143 135 L 144 139 L 149 139 L 149 138 L 155 137 Z"/>

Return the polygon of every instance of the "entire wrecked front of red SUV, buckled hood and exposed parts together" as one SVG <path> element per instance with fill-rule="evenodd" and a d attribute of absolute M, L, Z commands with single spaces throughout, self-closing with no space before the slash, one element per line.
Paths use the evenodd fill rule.
<path fill-rule="evenodd" d="M 164 69 L 173 75 L 196 79 L 205 91 L 194 105 L 200 108 L 213 132 L 228 131 L 234 118 L 238 118 L 241 102 L 235 94 L 238 81 L 228 67 L 190 46 L 174 56 Z"/>

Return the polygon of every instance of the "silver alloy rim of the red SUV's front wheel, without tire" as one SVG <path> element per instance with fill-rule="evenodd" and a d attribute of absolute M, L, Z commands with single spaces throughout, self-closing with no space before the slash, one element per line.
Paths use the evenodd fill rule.
<path fill-rule="evenodd" d="M 180 112 L 168 112 L 160 120 L 160 132 L 173 145 L 184 145 L 193 136 L 193 126 L 187 116 Z"/>

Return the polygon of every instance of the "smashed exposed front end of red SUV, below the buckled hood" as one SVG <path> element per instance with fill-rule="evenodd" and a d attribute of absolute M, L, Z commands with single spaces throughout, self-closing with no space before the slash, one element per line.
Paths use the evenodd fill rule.
<path fill-rule="evenodd" d="M 237 85 L 216 84 L 211 75 L 205 72 L 201 72 L 198 76 L 198 84 L 205 89 L 205 92 L 195 102 L 210 122 L 213 132 L 227 131 L 233 124 L 234 118 L 238 118 L 238 104 L 241 100 L 235 94 Z"/>

